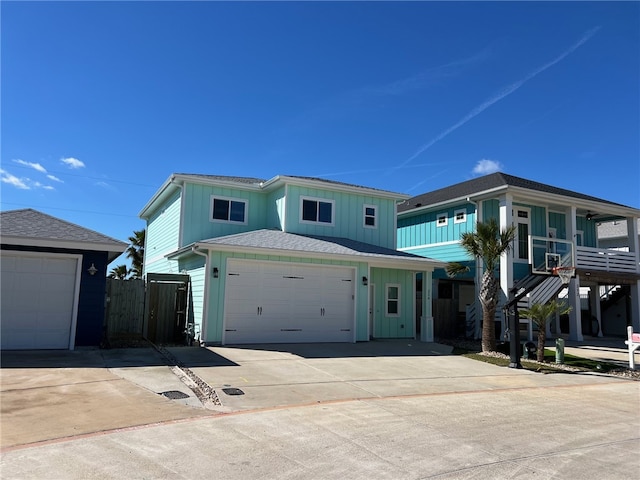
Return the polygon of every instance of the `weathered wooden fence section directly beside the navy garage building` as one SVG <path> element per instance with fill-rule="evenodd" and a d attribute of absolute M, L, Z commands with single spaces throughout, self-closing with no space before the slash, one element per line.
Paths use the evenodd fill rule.
<path fill-rule="evenodd" d="M 145 282 L 107 278 L 107 338 L 141 336 L 144 322 Z"/>

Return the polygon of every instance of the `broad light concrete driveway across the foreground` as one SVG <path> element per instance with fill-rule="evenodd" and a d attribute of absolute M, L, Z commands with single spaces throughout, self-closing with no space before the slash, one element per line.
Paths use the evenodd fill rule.
<path fill-rule="evenodd" d="M 406 341 L 3 352 L 2 476 L 602 479 L 640 468 L 640 382 L 448 353 Z M 189 379 L 219 402 L 198 403 Z"/>

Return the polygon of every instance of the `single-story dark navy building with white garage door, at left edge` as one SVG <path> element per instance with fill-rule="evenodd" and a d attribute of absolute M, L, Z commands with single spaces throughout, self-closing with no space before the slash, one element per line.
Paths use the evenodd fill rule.
<path fill-rule="evenodd" d="M 127 244 L 32 209 L 0 212 L 3 350 L 102 339 L 108 264 Z"/>

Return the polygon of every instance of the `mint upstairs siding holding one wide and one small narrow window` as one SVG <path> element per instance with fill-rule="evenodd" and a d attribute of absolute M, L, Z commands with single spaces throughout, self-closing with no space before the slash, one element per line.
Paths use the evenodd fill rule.
<path fill-rule="evenodd" d="M 302 223 L 301 197 L 334 201 L 333 225 Z M 364 226 L 364 206 L 376 207 L 376 228 Z M 289 185 L 286 204 L 286 230 L 301 235 L 344 237 L 395 249 L 396 204 L 392 199 L 377 198 L 349 192 L 336 192 Z"/>

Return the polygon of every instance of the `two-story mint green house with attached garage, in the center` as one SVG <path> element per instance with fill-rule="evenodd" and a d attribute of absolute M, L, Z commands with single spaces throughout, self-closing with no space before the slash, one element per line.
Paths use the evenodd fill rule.
<path fill-rule="evenodd" d="M 415 319 L 431 319 L 417 298 L 431 298 L 441 263 L 396 250 L 407 198 L 317 178 L 174 174 L 140 212 L 145 275 L 189 275 L 204 344 L 415 338 Z"/>

